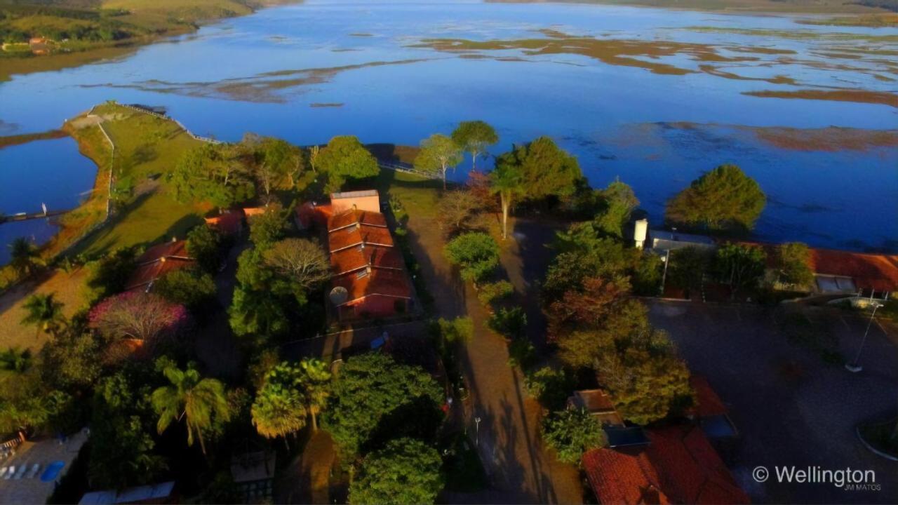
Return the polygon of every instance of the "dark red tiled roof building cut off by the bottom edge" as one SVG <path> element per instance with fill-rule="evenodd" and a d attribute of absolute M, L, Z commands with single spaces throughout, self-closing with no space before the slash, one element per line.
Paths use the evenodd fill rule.
<path fill-rule="evenodd" d="M 647 430 L 646 447 L 594 449 L 583 456 L 600 503 L 749 503 L 702 431 L 691 425 Z"/>

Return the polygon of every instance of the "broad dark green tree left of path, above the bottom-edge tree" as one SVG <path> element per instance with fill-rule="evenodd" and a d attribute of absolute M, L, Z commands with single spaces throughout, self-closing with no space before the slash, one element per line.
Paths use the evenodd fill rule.
<path fill-rule="evenodd" d="M 367 353 L 346 361 L 334 378 L 323 423 L 344 456 L 397 436 L 432 438 L 442 421 L 443 388 L 419 367 Z"/>

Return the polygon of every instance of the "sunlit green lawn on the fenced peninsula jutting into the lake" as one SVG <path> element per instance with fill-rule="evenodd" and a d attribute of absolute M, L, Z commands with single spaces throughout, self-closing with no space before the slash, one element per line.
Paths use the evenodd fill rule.
<path fill-rule="evenodd" d="M 165 174 L 178 163 L 180 156 L 200 142 L 173 121 L 119 105 L 105 104 L 94 113 L 104 119 L 103 128 L 116 146 L 116 179 L 119 184 L 129 182 L 133 190 L 110 218 L 110 223 L 89 235 L 70 253 L 93 256 L 120 247 L 153 244 L 172 236 L 183 237 L 191 226 L 201 223 L 204 208 L 179 203 L 164 183 Z M 78 129 L 75 137 L 85 155 L 106 167 L 108 162 L 96 157 L 97 153 L 104 152 L 107 144 L 98 132 L 99 127 L 88 126 Z"/>

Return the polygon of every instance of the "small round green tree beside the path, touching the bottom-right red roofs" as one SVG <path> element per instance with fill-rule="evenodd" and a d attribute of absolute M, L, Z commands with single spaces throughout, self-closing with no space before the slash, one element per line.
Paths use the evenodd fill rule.
<path fill-rule="evenodd" d="M 542 438 L 560 461 L 577 465 L 583 453 L 608 444 L 602 421 L 585 409 L 552 412 L 542 421 Z"/>

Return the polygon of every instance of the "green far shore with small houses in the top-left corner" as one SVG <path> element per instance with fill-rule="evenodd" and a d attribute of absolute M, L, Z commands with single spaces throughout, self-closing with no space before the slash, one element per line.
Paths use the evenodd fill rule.
<path fill-rule="evenodd" d="M 290 0 L 0 0 L 0 82 L 117 58 L 142 44 L 196 31 Z"/>

